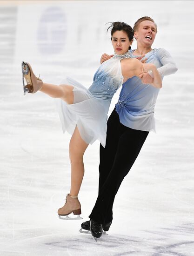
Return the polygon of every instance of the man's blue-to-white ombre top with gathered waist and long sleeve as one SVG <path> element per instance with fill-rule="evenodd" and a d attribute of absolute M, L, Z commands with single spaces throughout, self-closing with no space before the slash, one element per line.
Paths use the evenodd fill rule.
<path fill-rule="evenodd" d="M 129 52 L 133 55 L 134 50 Z M 177 71 L 171 55 L 165 49 L 153 49 L 144 58 L 147 58 L 146 63 L 153 63 L 157 67 L 162 79 L 164 75 Z M 129 78 L 123 83 L 116 104 L 120 122 L 132 129 L 155 132 L 154 107 L 159 90 L 152 85 L 143 84 L 137 76 Z"/>

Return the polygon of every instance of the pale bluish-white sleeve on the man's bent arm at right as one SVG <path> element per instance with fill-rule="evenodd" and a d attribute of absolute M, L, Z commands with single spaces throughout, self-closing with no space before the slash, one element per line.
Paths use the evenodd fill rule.
<path fill-rule="evenodd" d="M 161 76 L 174 74 L 178 70 L 172 56 L 167 50 L 162 48 L 158 49 L 157 58 L 163 65 L 162 67 L 158 67 L 158 72 L 161 74 Z M 152 72 L 148 73 L 153 77 Z"/>

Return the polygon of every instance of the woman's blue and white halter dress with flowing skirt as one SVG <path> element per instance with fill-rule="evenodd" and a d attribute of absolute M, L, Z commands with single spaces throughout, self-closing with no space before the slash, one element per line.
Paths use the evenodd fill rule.
<path fill-rule="evenodd" d="M 107 136 L 107 113 L 116 90 L 122 85 L 120 60 L 131 54 L 115 54 L 103 62 L 94 74 L 94 82 L 85 88 L 79 82 L 67 77 L 66 83 L 74 87 L 74 103 L 59 101 L 59 115 L 63 132 L 74 133 L 77 125 L 81 138 L 92 144 L 99 140 L 103 147 Z"/>

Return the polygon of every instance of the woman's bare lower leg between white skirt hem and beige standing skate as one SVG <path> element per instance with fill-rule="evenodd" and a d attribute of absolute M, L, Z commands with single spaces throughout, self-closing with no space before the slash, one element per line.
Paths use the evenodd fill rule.
<path fill-rule="evenodd" d="M 84 176 L 83 155 L 88 144 L 81 138 L 76 127 L 69 144 L 69 157 L 71 161 L 71 189 L 70 195 L 77 196 Z"/>

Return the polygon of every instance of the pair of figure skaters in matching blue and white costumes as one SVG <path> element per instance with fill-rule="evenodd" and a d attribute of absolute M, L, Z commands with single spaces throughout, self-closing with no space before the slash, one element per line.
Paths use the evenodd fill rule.
<path fill-rule="evenodd" d="M 67 84 L 45 83 L 33 74 L 29 63 L 22 63 L 23 78 L 27 82 L 24 93 L 41 91 L 59 98 L 63 131 L 72 134 L 69 144 L 71 189 L 65 205 L 58 210 L 60 217 L 69 218 L 73 213 L 80 218 L 78 194 L 84 175 L 83 155 L 89 144 L 100 141 L 98 198 L 90 221 L 81 224 L 82 229 L 90 230 L 95 241 L 103 230 L 109 230 L 120 184 L 149 131 L 155 131 L 154 106 L 163 76 L 177 70 L 166 50 L 152 49 L 157 26 L 150 17 L 137 20 L 133 29 L 124 22 L 113 22 L 108 29 L 111 29 L 114 55 L 102 55 L 89 89 L 68 77 Z M 134 37 L 137 49 L 131 50 Z M 120 86 L 119 101 L 107 121 L 111 99 Z"/>

